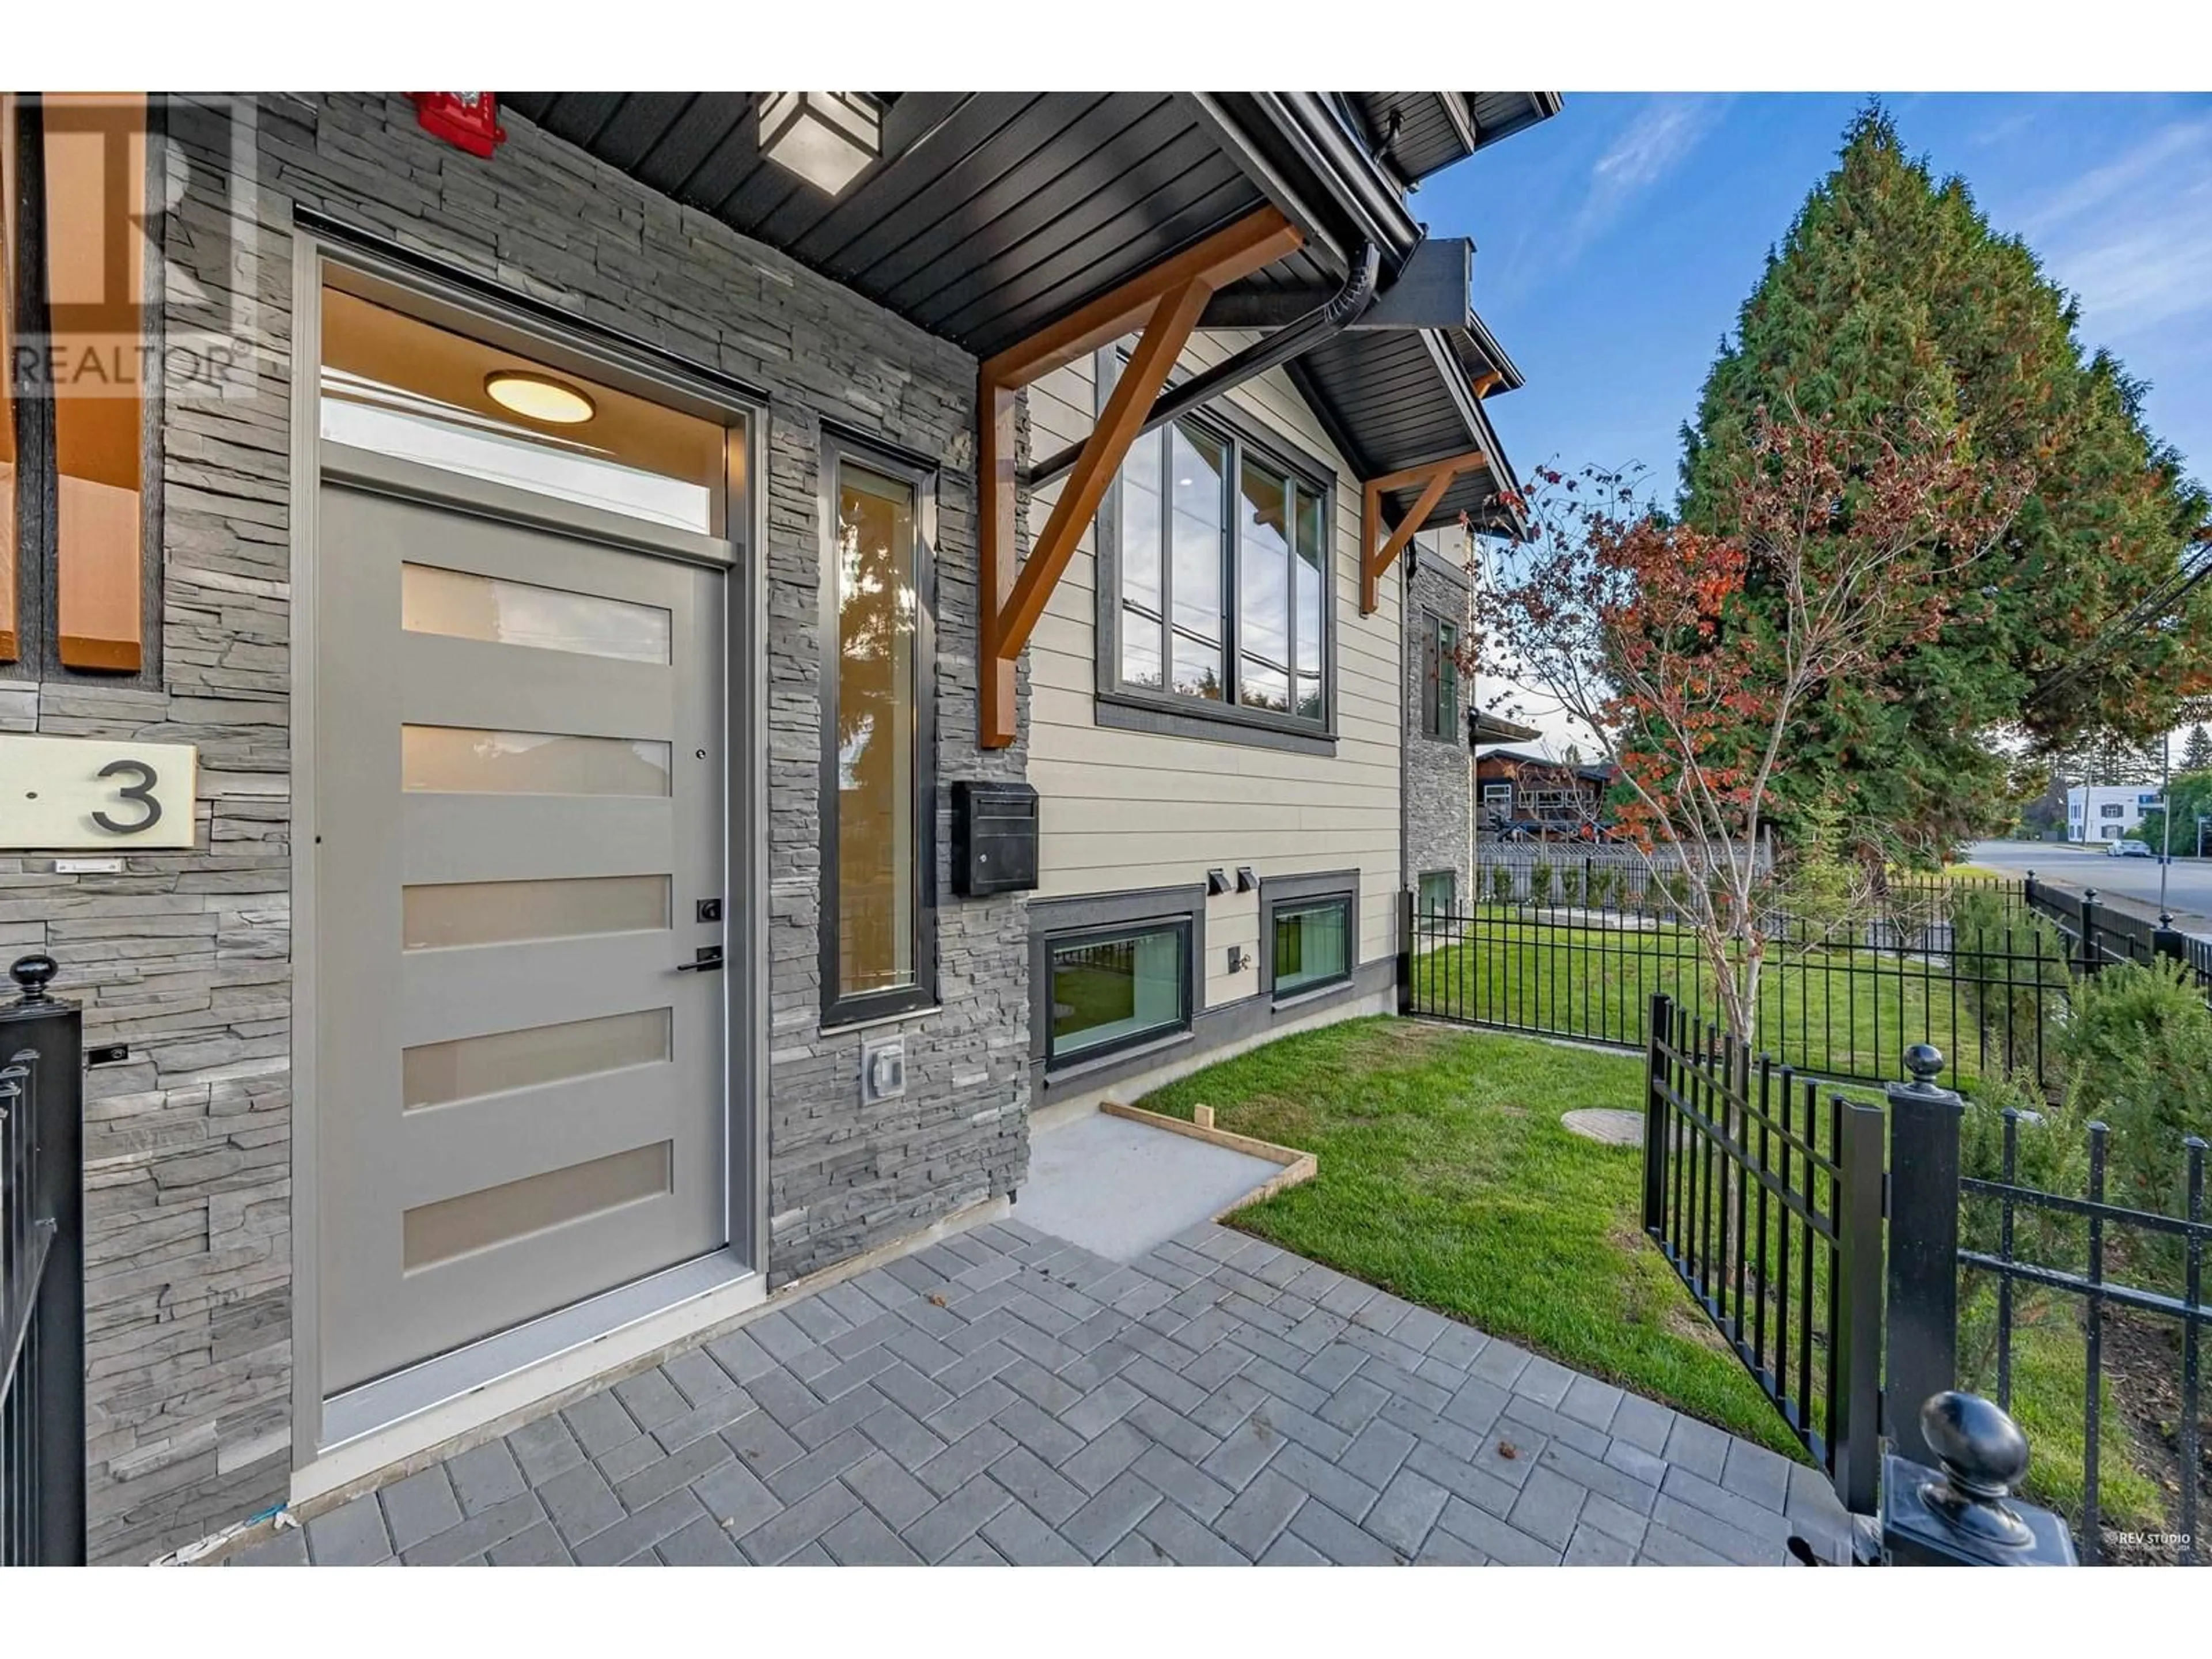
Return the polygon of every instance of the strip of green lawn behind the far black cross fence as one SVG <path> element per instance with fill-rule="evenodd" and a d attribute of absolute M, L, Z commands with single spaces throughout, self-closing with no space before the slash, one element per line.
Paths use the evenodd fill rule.
<path fill-rule="evenodd" d="M 1646 1040 L 1655 991 L 1721 1018 L 1712 969 L 1688 929 L 1670 922 L 1597 927 L 1571 922 L 1564 911 L 1482 905 L 1464 940 L 1416 956 L 1416 1009 L 1626 1044 Z M 1759 1048 L 1776 1064 L 1902 1082 L 1905 1048 L 1916 1042 L 1942 1048 L 1953 1066 L 1947 1082 L 1971 1088 L 1980 1077 L 1982 1035 L 1949 969 L 1867 949 L 1816 949 L 1770 960 L 1761 973 Z"/>

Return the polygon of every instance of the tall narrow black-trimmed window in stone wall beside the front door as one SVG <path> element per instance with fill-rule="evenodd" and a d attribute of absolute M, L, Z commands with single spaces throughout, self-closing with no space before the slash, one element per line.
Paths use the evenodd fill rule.
<path fill-rule="evenodd" d="M 936 1000 L 936 473 L 823 438 L 823 1020 Z"/>

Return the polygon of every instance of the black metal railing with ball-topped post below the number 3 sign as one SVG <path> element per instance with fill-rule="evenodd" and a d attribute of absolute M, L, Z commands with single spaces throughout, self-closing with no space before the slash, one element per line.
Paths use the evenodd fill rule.
<path fill-rule="evenodd" d="M 0 1566 L 84 1562 L 84 1048 L 51 956 L 0 1006 Z"/>

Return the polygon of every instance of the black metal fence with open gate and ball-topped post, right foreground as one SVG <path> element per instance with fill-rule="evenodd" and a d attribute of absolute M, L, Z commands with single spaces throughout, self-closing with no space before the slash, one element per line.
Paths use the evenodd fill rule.
<path fill-rule="evenodd" d="M 1874 1104 L 1754 1057 L 1663 993 L 1648 1024 L 1644 1232 L 1854 1513 L 1876 1509 L 1885 1438 L 1936 1462 L 1918 1407 L 1964 1380 L 2046 1429 L 2077 1413 L 2077 1442 L 2048 1436 L 2039 1489 L 2084 1562 L 2205 1559 L 2201 1137 L 2150 1150 L 2172 1152 L 2157 1181 L 2170 1203 L 2115 1203 L 2104 1124 L 2086 1128 L 2077 1190 L 2059 1190 L 2075 1166 L 2053 1137 L 2075 1130 L 1984 1115 L 1933 1082 L 1929 1048 Z M 2044 1139 L 2024 1150 L 2026 1135 Z M 2143 1159 L 2130 1148 L 2135 1170 Z M 2115 1411 L 2132 1482 L 2119 1526 Z"/>

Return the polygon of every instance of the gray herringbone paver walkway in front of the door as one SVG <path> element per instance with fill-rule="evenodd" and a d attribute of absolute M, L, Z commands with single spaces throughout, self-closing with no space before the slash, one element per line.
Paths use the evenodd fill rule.
<path fill-rule="evenodd" d="M 978 1228 L 239 1564 L 1783 1564 L 1812 1469 L 1219 1225 Z"/>

